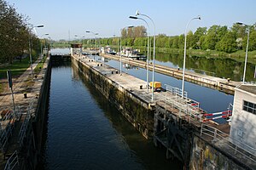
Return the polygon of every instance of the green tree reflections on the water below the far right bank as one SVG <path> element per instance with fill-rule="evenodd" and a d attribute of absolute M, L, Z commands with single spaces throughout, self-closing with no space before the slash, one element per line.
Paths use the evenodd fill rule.
<path fill-rule="evenodd" d="M 182 54 L 164 54 L 158 53 L 156 55 L 156 63 L 170 67 L 183 67 Z M 254 81 L 254 66 L 247 63 L 247 82 Z M 209 76 L 230 78 L 231 80 L 241 82 L 243 76 L 244 63 L 230 58 L 207 58 L 188 56 L 186 58 L 186 69 L 195 71 Z"/>

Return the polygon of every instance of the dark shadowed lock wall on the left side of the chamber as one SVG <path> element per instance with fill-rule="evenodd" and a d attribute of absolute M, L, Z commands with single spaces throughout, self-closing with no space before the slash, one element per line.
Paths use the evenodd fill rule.
<path fill-rule="evenodd" d="M 43 83 L 40 88 L 40 94 L 37 100 L 37 108 L 34 116 L 31 119 L 31 127 L 28 127 L 26 133 L 26 144 L 22 149 L 23 161 L 21 161 L 20 169 L 36 169 L 39 162 L 41 161 L 41 149 L 43 142 L 43 135 L 45 129 L 45 122 L 48 111 L 48 100 L 49 100 L 49 88 L 50 88 L 50 77 L 51 77 L 51 62 L 47 60 L 47 67 L 44 69 L 45 72 L 42 76 Z"/>

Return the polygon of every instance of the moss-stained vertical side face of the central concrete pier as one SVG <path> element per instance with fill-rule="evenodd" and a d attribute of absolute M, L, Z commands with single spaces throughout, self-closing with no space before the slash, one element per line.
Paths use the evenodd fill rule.
<path fill-rule="evenodd" d="M 148 103 L 139 99 L 135 94 L 110 80 L 106 75 L 94 70 L 89 65 L 79 62 L 72 57 L 72 65 L 77 67 L 84 78 L 91 83 L 111 102 L 119 111 L 148 139 L 154 133 L 154 111 L 148 107 Z"/>

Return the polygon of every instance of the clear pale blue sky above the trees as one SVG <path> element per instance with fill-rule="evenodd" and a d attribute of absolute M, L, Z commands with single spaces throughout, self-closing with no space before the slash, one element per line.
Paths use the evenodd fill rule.
<path fill-rule="evenodd" d="M 19 14 L 30 18 L 38 37 L 48 33 L 54 40 L 73 40 L 75 35 L 93 38 L 119 36 L 125 26 L 145 26 L 143 20 L 131 20 L 138 10 L 154 20 L 155 34 L 177 36 L 184 33 L 187 23 L 201 15 L 201 20 L 189 23 L 188 31 L 212 25 L 231 27 L 237 21 L 256 23 L 255 0 L 6 0 Z M 138 16 L 142 17 L 143 16 Z M 147 18 L 149 35 L 154 26 Z"/>

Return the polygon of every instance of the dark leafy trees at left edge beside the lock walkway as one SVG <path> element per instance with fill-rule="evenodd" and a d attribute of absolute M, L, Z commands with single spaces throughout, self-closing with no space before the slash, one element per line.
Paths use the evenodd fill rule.
<path fill-rule="evenodd" d="M 16 12 L 14 6 L 0 0 L 0 63 L 11 64 L 17 56 L 28 53 L 30 37 L 32 52 L 39 51 L 40 41 L 32 33 L 27 20 L 26 16 Z"/>

